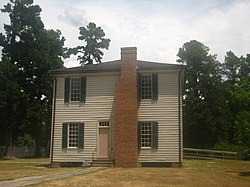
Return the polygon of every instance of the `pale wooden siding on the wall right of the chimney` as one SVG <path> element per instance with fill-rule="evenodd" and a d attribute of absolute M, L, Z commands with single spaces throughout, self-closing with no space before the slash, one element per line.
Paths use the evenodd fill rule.
<path fill-rule="evenodd" d="M 140 103 L 138 121 L 158 121 L 158 150 L 141 149 L 139 162 L 179 162 L 178 73 L 158 73 L 158 101 Z"/>

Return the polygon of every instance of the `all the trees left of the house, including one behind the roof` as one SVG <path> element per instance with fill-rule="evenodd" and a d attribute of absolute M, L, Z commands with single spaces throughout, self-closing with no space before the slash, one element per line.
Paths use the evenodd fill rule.
<path fill-rule="evenodd" d="M 101 62 L 110 39 L 95 23 L 80 27 L 84 45 L 64 47 L 60 30 L 48 30 L 41 20 L 41 8 L 33 0 L 10 0 L 1 12 L 9 24 L 0 33 L 0 152 L 12 157 L 12 146 L 41 147 L 49 153 L 53 79 L 50 70 L 63 68 L 63 59 L 78 55 L 81 65 Z M 1 154 L 0 154 L 1 156 Z"/>

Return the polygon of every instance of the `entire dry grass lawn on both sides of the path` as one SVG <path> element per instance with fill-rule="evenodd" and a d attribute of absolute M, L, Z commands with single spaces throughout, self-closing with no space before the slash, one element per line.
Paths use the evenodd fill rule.
<path fill-rule="evenodd" d="M 82 168 L 49 168 L 48 159 L 0 160 L 0 180 Z M 183 168 L 108 168 L 44 186 L 250 186 L 250 161 L 185 160 Z"/>

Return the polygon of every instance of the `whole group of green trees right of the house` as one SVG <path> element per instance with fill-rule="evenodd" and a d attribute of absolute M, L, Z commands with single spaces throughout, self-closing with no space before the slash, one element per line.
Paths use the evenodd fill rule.
<path fill-rule="evenodd" d="M 226 53 L 223 63 L 198 41 L 177 54 L 187 65 L 184 90 L 184 146 L 250 148 L 250 54 Z"/>

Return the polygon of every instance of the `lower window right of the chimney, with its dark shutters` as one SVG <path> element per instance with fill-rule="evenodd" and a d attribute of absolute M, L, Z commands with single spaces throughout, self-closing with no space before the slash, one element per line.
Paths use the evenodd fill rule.
<path fill-rule="evenodd" d="M 158 122 L 139 122 L 139 148 L 158 149 Z"/>

